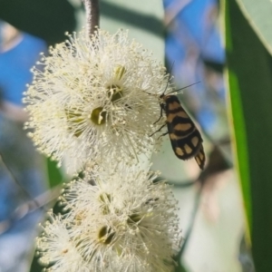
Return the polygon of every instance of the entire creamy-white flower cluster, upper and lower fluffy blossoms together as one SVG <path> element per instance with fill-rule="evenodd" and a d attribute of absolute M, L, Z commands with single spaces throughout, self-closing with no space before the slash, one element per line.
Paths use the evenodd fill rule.
<path fill-rule="evenodd" d="M 39 151 L 67 161 L 64 215 L 49 213 L 37 248 L 45 271 L 173 271 L 179 220 L 170 187 L 141 170 L 161 126 L 165 68 L 128 33 L 69 35 L 34 68 L 25 93 Z"/>

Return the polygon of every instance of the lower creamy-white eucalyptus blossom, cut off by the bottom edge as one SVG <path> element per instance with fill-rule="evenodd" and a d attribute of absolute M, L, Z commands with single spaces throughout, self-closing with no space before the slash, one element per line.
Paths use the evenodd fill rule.
<path fill-rule="evenodd" d="M 148 170 L 119 165 L 69 184 L 63 193 L 67 212 L 63 221 L 69 222 L 63 235 L 67 233 L 68 238 L 62 244 L 75 247 L 74 267 L 78 260 L 90 271 L 173 271 L 173 257 L 180 248 L 177 201 L 164 181 L 153 182 L 156 177 Z M 61 221 L 59 224 L 63 228 Z M 53 242 L 61 235 L 52 230 L 50 223 L 45 225 L 44 237 L 52 246 L 39 243 L 39 250 L 43 258 L 52 257 L 68 266 L 63 247 Z"/>

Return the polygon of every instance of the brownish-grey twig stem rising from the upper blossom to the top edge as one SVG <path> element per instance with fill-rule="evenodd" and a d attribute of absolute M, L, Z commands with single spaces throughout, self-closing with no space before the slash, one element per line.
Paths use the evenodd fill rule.
<path fill-rule="evenodd" d="M 95 31 L 95 28 L 99 26 L 99 0 L 83 0 L 86 10 L 86 26 L 89 37 Z"/>

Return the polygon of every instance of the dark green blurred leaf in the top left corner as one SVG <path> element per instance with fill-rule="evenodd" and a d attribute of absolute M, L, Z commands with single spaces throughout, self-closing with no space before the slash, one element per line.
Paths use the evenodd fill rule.
<path fill-rule="evenodd" d="M 73 5 L 67 0 L 0 0 L 0 19 L 19 30 L 61 43 L 75 27 Z"/>

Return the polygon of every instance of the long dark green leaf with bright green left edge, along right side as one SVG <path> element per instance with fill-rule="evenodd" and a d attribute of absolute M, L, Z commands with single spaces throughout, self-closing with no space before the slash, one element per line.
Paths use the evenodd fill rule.
<path fill-rule="evenodd" d="M 226 1 L 228 84 L 238 172 L 257 271 L 272 271 L 272 59 L 236 1 Z"/>

